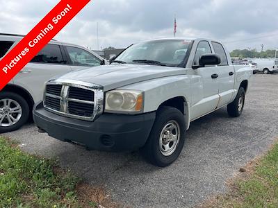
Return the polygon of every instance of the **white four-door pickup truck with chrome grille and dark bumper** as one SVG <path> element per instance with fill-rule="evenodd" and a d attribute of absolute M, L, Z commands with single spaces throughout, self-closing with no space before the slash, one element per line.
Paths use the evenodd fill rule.
<path fill-rule="evenodd" d="M 45 84 L 33 117 L 40 132 L 89 149 L 140 149 L 156 166 L 174 162 L 190 122 L 227 106 L 243 112 L 252 69 L 234 66 L 217 41 L 169 38 L 133 44 L 108 66 Z"/>

